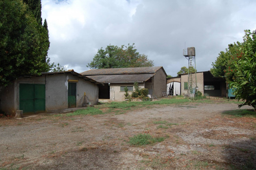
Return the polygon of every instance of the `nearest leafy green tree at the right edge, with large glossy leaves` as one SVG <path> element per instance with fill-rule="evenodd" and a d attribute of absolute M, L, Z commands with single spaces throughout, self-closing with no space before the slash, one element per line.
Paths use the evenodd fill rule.
<path fill-rule="evenodd" d="M 256 32 L 245 30 L 243 41 L 237 53 L 230 57 L 225 76 L 236 99 L 244 101 L 239 107 L 250 105 L 256 111 Z"/>

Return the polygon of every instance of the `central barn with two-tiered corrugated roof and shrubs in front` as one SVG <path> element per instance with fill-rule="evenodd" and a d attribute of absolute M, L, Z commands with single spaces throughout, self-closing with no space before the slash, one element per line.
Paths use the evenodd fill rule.
<path fill-rule="evenodd" d="M 134 82 L 140 88 L 148 89 L 148 94 L 153 97 L 160 98 L 162 91 L 166 91 L 167 74 L 163 67 L 92 69 L 80 74 L 104 84 L 99 87 L 99 99 L 123 101 L 124 88 L 127 87 L 128 93 L 132 94 Z"/>

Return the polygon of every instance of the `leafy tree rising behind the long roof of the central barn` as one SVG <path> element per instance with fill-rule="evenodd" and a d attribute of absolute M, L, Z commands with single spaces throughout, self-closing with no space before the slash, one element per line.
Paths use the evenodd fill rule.
<path fill-rule="evenodd" d="M 139 54 L 134 44 L 121 47 L 109 44 L 105 50 L 98 49 L 93 61 L 88 63 L 90 68 L 125 68 L 125 67 L 151 67 L 153 61 L 145 54 Z"/>

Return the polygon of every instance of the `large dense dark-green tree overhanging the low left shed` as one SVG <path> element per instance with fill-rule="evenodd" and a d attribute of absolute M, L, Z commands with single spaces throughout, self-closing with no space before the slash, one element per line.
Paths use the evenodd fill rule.
<path fill-rule="evenodd" d="M 0 1 L 0 87 L 50 69 L 48 33 L 22 0 Z"/>

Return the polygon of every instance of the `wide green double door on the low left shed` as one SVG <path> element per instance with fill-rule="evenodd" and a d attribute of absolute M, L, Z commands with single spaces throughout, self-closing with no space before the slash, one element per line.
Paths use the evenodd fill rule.
<path fill-rule="evenodd" d="M 20 84 L 20 110 L 23 113 L 45 112 L 44 84 Z"/>

